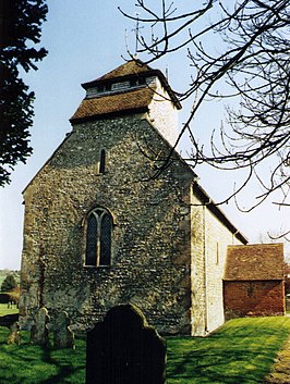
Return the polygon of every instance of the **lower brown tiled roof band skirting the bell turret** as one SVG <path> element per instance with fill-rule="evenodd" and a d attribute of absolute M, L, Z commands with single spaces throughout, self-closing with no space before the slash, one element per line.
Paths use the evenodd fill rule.
<path fill-rule="evenodd" d="M 70 121 L 97 119 L 109 114 L 120 115 L 132 112 L 146 112 L 153 96 L 153 89 L 140 88 L 121 94 L 84 99 Z"/>

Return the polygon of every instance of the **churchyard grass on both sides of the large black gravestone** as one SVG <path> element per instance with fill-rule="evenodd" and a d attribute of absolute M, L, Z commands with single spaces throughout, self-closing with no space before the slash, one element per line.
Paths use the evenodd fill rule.
<path fill-rule="evenodd" d="M 167 384 L 263 383 L 290 333 L 290 318 L 229 321 L 209 337 L 167 338 Z M 0 327 L 1 384 L 84 384 L 85 340 L 75 350 L 43 349 L 28 344 L 7 345 Z"/>

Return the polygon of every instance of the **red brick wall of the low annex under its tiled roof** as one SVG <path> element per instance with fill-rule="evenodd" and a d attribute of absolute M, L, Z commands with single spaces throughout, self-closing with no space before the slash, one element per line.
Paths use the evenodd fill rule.
<path fill-rule="evenodd" d="M 223 282 L 227 319 L 285 314 L 282 281 Z"/>

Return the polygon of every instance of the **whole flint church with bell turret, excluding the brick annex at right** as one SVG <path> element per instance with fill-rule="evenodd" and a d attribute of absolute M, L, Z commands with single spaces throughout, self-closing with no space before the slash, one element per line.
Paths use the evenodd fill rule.
<path fill-rule="evenodd" d="M 246 239 L 172 147 L 181 106 L 135 61 L 83 87 L 72 132 L 23 194 L 22 327 L 45 307 L 89 330 L 130 304 L 160 334 L 206 335 L 225 321 L 227 246 Z"/>

